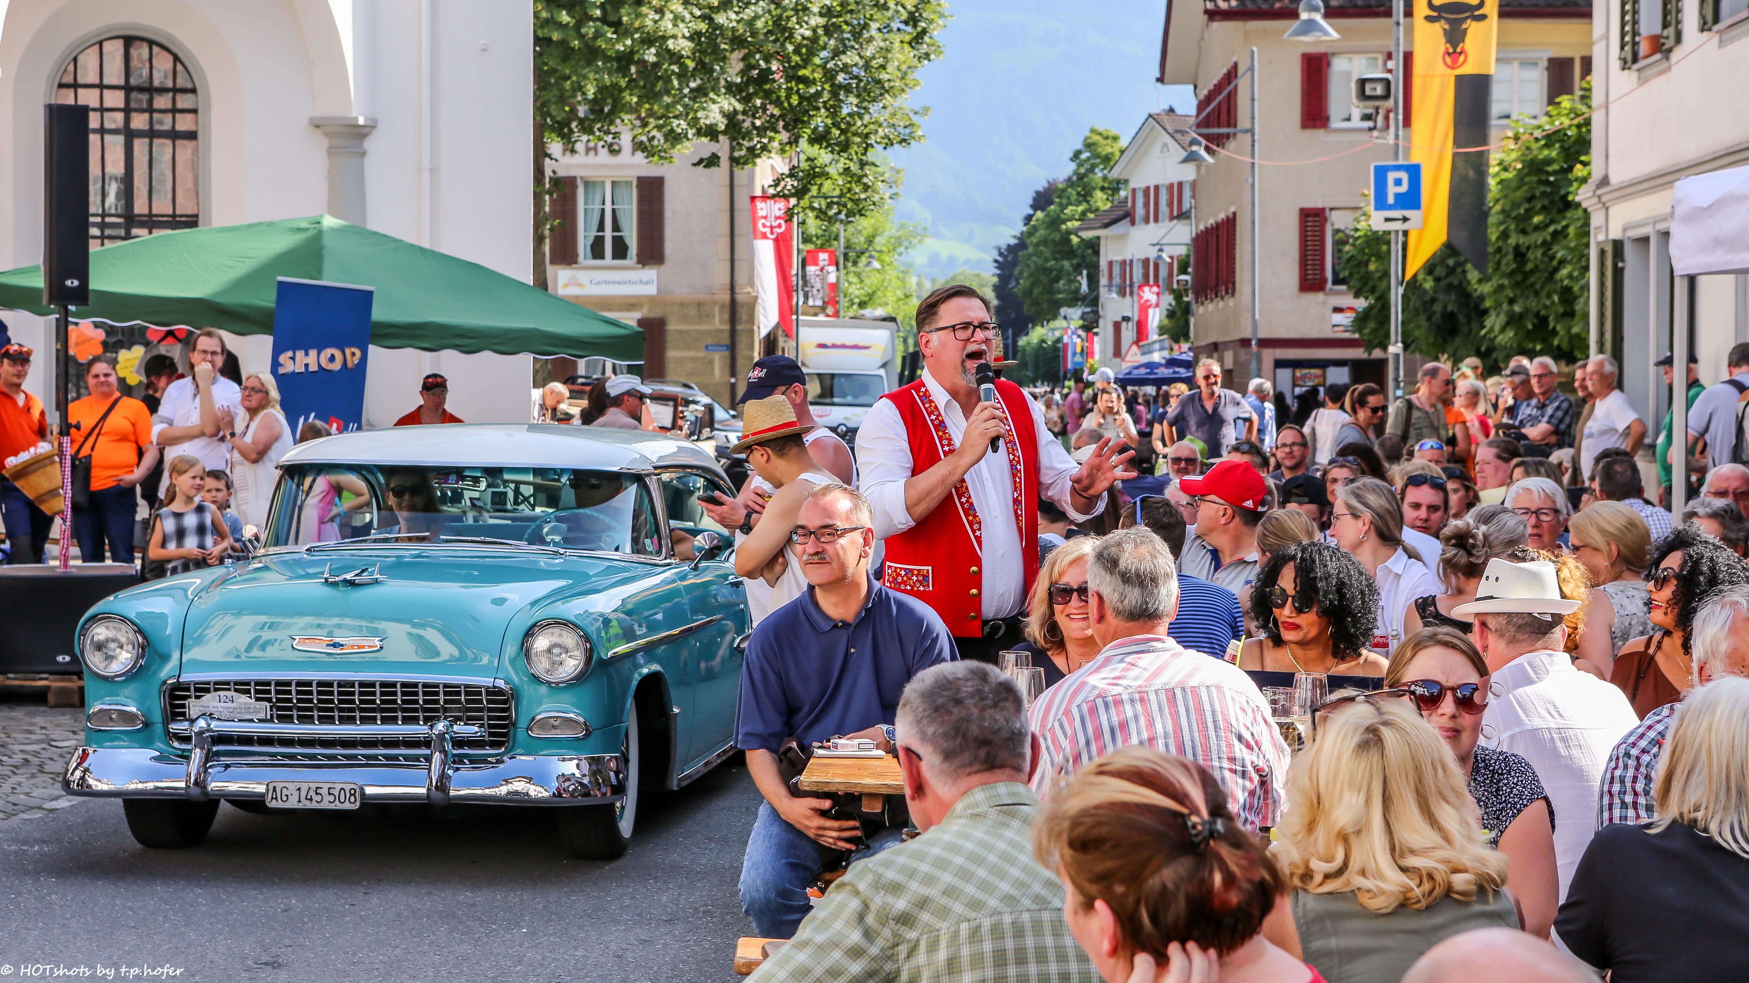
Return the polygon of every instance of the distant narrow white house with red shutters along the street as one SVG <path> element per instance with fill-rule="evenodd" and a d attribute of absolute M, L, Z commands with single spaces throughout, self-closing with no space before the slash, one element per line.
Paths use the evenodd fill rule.
<path fill-rule="evenodd" d="M 1163 320 L 1172 283 L 1191 244 L 1191 197 L 1196 168 L 1181 164 L 1184 127 L 1191 117 L 1149 113 L 1125 145 L 1111 176 L 1128 185 L 1111 208 L 1083 222 L 1083 236 L 1098 237 L 1098 361 L 1135 365 L 1149 356 L 1140 342 L 1137 288 L 1160 286 Z M 1153 346 L 1151 346 L 1153 347 Z"/>

